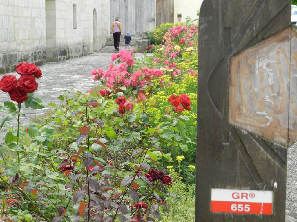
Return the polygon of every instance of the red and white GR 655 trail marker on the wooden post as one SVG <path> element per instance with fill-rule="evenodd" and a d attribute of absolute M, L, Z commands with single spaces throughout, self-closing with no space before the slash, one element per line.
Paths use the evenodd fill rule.
<path fill-rule="evenodd" d="M 211 212 L 272 215 L 272 191 L 211 189 Z"/>

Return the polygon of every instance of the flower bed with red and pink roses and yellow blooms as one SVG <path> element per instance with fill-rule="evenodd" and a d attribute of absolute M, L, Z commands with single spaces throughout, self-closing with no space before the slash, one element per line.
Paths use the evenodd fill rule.
<path fill-rule="evenodd" d="M 107 69 L 91 73 L 98 91 L 64 92 L 59 96 L 64 104 L 48 104 L 55 108 L 51 116 L 23 127 L 18 121 L 18 128 L 9 129 L 0 145 L 0 180 L 6 186 L 1 217 L 161 219 L 158 208 L 168 207 L 170 186 L 195 181 L 197 33 L 197 25 L 170 28 L 153 56 L 139 60 L 133 51 L 114 53 Z M 4 92 L 18 89 L 11 96 L 16 103 L 0 103 L 5 121 L 20 118 L 23 102 L 45 107 L 30 94 L 41 71 L 20 64 L 17 72 L 18 80 L 0 81 Z M 11 152 L 18 158 L 8 159 Z"/>

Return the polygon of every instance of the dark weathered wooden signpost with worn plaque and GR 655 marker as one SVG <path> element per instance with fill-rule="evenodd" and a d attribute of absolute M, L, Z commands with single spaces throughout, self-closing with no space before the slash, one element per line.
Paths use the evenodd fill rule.
<path fill-rule="evenodd" d="M 206 0 L 199 17 L 196 221 L 285 221 L 297 139 L 290 0 Z"/>

